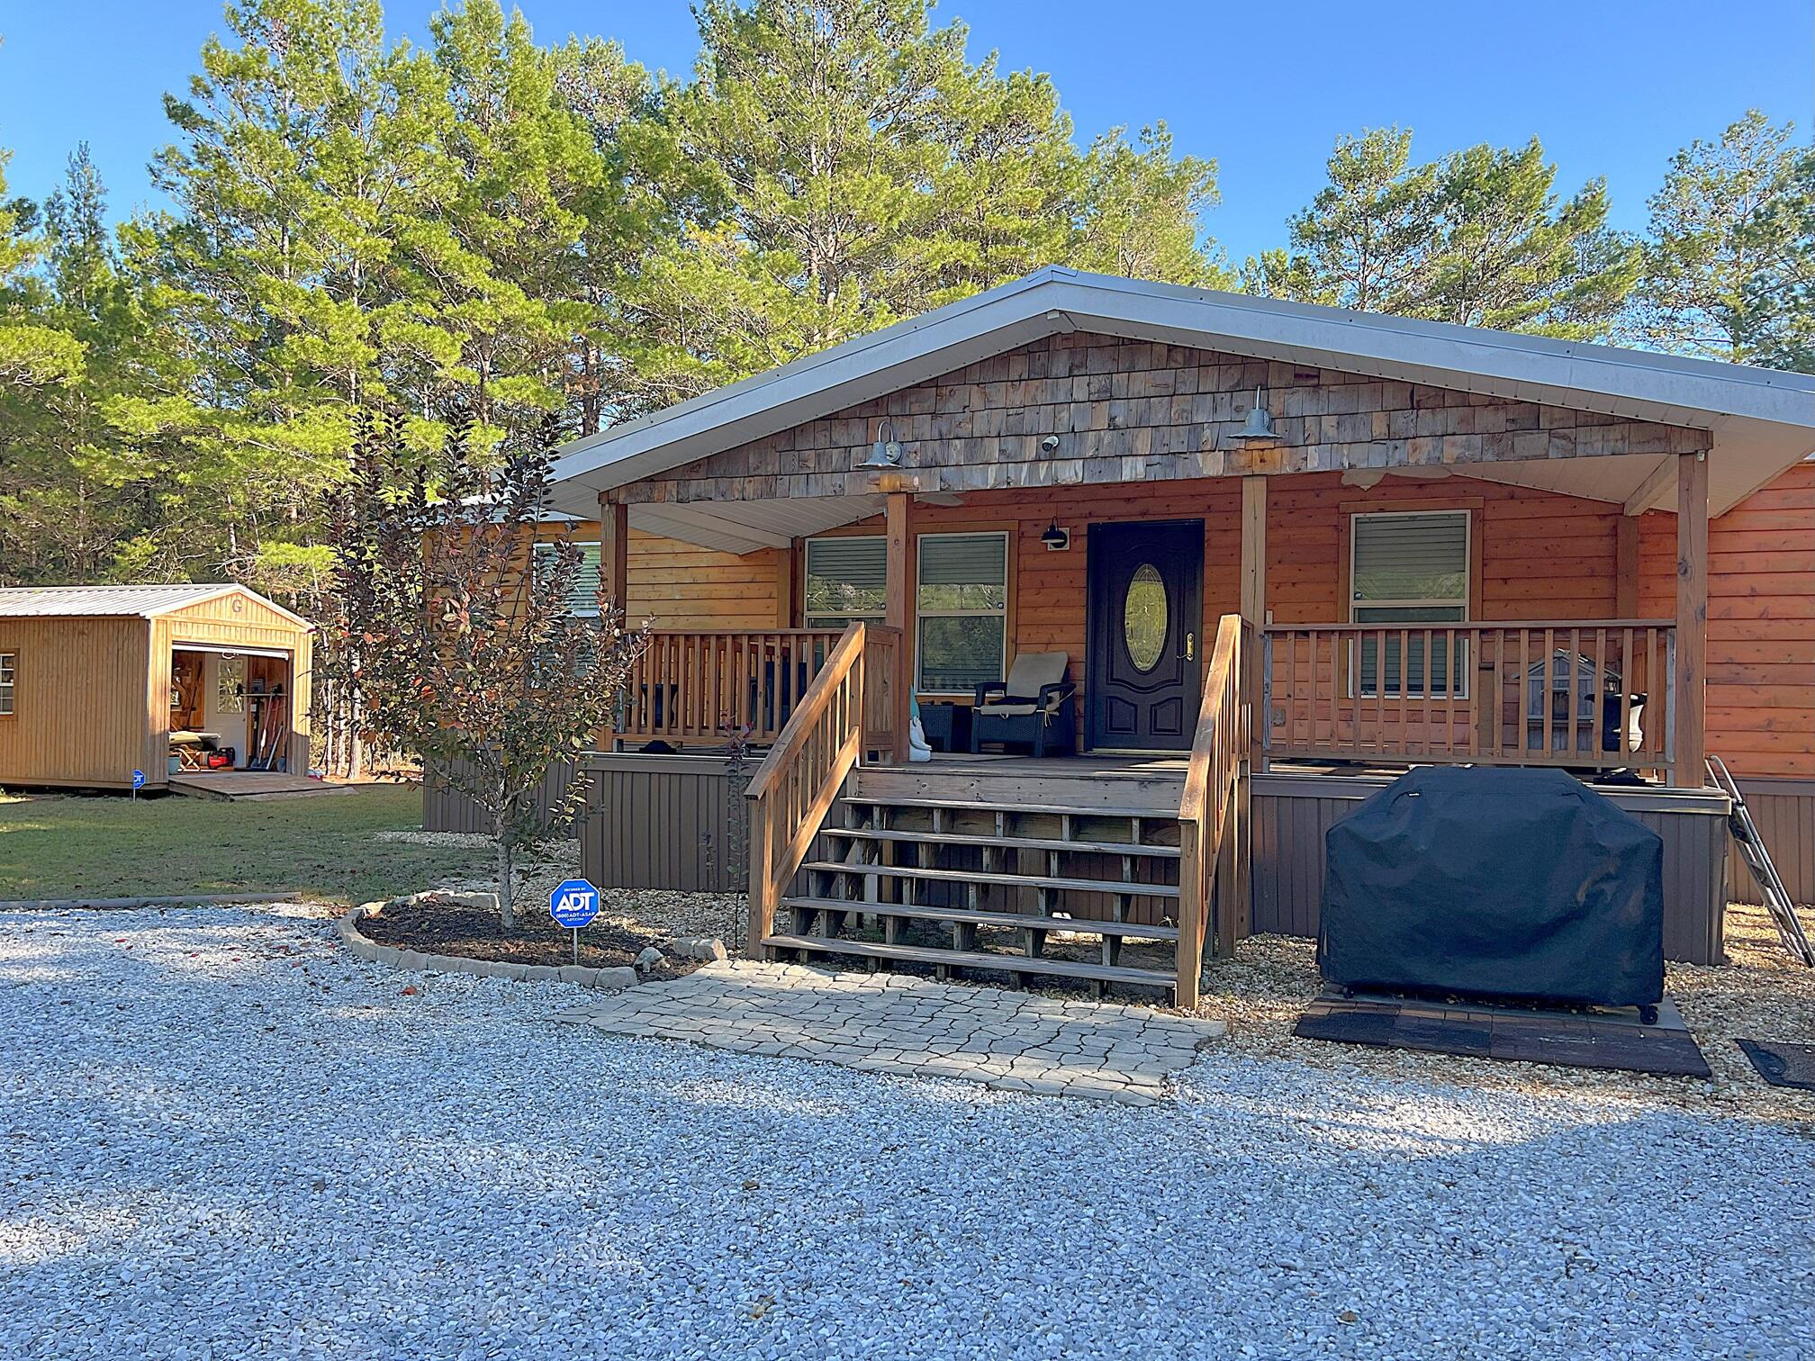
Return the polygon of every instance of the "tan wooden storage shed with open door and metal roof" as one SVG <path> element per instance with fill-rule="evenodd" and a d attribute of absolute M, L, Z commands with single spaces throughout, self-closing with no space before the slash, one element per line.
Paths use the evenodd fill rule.
<path fill-rule="evenodd" d="M 0 588 L 0 786 L 303 775 L 312 630 L 223 583 Z"/>

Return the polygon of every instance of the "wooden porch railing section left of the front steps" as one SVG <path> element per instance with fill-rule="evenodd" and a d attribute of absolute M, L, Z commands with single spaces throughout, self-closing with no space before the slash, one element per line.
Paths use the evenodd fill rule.
<path fill-rule="evenodd" d="M 864 632 L 864 749 L 893 746 L 900 630 Z M 835 628 L 657 630 L 624 686 L 621 742 L 721 744 L 744 733 L 771 746 L 844 637 Z"/>

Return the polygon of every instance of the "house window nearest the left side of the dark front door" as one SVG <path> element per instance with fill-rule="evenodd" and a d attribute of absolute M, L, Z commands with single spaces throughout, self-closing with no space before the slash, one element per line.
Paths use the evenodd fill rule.
<path fill-rule="evenodd" d="M 1004 675 L 1009 539 L 1006 534 L 922 534 L 918 543 L 917 688 L 969 695 L 984 680 Z"/>

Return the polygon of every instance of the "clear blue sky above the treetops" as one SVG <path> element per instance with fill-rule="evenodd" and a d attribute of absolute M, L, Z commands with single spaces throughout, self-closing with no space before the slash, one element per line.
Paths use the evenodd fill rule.
<path fill-rule="evenodd" d="M 421 36 L 434 0 L 387 0 Z M 619 38 L 650 67 L 686 71 L 697 33 L 681 0 L 521 0 L 544 42 Z M 1528 0 L 1521 4 L 1084 4 L 946 0 L 971 53 L 1047 71 L 1080 136 L 1165 118 L 1180 151 L 1221 163 L 1211 232 L 1234 258 L 1283 241 L 1323 178 L 1338 132 L 1401 123 L 1421 160 L 1537 134 L 1559 185 L 1604 174 L 1615 225 L 1643 227 L 1668 156 L 1746 107 L 1815 105 L 1810 0 Z M 1712 22 L 1715 20 L 1715 22 Z M 169 140 L 160 98 L 180 91 L 218 0 L 0 0 L 0 147 L 9 192 L 47 192 L 87 140 L 116 214 L 151 203 L 145 162 Z"/>

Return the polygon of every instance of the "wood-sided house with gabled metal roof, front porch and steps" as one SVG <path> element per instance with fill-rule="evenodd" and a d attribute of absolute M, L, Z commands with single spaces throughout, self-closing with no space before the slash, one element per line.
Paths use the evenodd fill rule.
<path fill-rule="evenodd" d="M 1666 951 L 1719 960 L 1710 740 L 1815 806 L 1811 450 L 1800 374 L 1040 270 L 563 452 L 657 630 L 586 867 L 726 873 L 699 751 L 744 733 L 759 947 L 1189 1002 L 1316 929 L 1394 769 L 1548 764 L 1628 780 Z M 913 700 L 962 735 L 1051 653 L 1076 755 L 906 760 Z"/>

